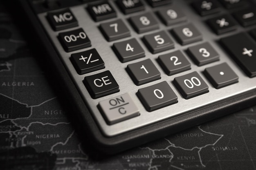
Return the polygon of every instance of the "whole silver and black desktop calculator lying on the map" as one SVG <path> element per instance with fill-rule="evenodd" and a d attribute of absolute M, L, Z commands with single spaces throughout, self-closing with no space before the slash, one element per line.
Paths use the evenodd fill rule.
<path fill-rule="evenodd" d="M 256 103 L 250 0 L 20 0 L 62 95 L 114 154 Z"/>

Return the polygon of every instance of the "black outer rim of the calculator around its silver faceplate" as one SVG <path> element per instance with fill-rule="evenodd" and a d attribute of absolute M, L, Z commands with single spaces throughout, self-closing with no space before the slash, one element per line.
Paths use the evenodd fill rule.
<path fill-rule="evenodd" d="M 252 91 L 247 91 L 243 95 L 232 97 L 198 110 L 193 110 L 192 112 L 178 117 L 159 121 L 155 124 L 135 129 L 114 137 L 106 137 L 101 133 L 101 130 L 97 126 L 92 115 L 86 114 L 89 113 L 87 106 L 72 82 L 70 75 L 63 66 L 54 47 L 51 45 L 52 43 L 43 30 L 43 27 L 41 27 L 41 24 L 38 18 L 36 18 L 36 15 L 31 9 L 29 3 L 27 0 L 18 0 L 18 2 L 22 6 L 24 15 L 26 15 L 25 19 L 29 19 L 27 21 L 30 22 L 29 26 L 32 28 L 30 31 L 34 31 L 33 33 L 40 39 L 40 43 L 42 43 L 40 45 L 43 46 L 43 49 L 48 54 L 47 56 L 49 57 L 49 60 L 51 60 L 53 65 L 56 66 L 54 67 L 56 68 L 54 71 L 58 74 L 57 77 L 59 77 L 59 84 L 65 86 L 65 96 L 69 96 L 68 102 L 73 103 L 70 104 L 72 105 L 72 110 L 77 112 L 77 116 L 81 122 L 85 122 L 82 124 L 83 130 L 79 130 L 78 134 L 83 135 L 82 132 L 87 130 L 88 134 L 86 137 L 90 138 L 94 148 L 97 148 L 100 152 L 115 154 L 117 152 L 145 144 L 149 141 L 166 137 L 167 135 L 171 135 L 175 132 L 202 124 L 206 121 L 216 119 L 229 113 L 233 113 L 256 103 L 256 89 L 254 89 Z M 239 107 L 237 107 L 237 104 L 239 104 Z M 74 105 L 76 105 L 76 107 L 74 107 Z"/>

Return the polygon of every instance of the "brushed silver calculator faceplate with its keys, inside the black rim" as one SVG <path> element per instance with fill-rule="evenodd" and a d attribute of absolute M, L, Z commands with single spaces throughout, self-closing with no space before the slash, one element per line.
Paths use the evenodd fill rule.
<path fill-rule="evenodd" d="M 99 128 L 111 137 L 255 88 L 254 11 L 232 5 L 231 13 L 218 2 L 106 0 L 38 16 Z M 58 24 L 69 17 L 77 23 L 58 31 L 52 14 Z M 242 26 L 255 39 L 240 35 Z"/>

